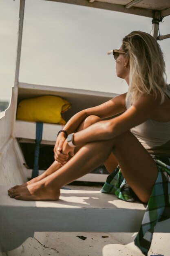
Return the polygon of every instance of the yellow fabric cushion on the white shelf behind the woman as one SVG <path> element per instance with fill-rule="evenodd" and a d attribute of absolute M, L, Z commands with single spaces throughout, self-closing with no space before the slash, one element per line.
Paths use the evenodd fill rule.
<path fill-rule="evenodd" d="M 17 109 L 16 118 L 24 121 L 65 124 L 61 113 L 64 113 L 71 104 L 58 96 L 40 96 L 22 100 Z"/>

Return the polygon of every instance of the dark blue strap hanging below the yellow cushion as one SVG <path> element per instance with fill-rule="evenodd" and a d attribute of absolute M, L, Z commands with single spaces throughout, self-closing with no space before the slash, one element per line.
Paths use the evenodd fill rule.
<path fill-rule="evenodd" d="M 42 130 L 43 130 L 43 123 L 37 122 L 36 123 L 36 139 L 35 139 L 35 153 L 34 153 L 34 165 L 32 171 L 32 179 L 38 176 L 39 171 L 39 153 L 40 153 L 40 143 L 42 141 Z"/>

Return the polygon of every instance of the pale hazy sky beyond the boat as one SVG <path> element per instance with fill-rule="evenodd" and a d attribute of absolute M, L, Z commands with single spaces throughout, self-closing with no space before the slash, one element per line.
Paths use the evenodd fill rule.
<path fill-rule="evenodd" d="M 0 101 L 14 83 L 19 0 L 0 0 Z M 39 85 L 124 93 L 110 49 L 133 30 L 150 33 L 152 19 L 59 2 L 26 0 L 19 81 Z M 170 33 L 170 16 L 159 26 Z M 170 83 L 170 38 L 159 41 Z"/>

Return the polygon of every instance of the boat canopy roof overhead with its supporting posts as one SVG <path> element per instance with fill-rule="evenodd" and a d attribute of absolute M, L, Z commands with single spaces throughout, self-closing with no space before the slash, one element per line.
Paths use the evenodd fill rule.
<path fill-rule="evenodd" d="M 139 16 L 152 18 L 151 35 L 157 40 L 170 38 L 170 34 L 158 36 L 159 22 L 170 15 L 170 0 L 43 0 L 52 2 L 62 2 L 66 4 L 76 4 L 85 7 L 94 7 L 121 13 L 130 13 Z M 18 87 L 18 77 L 20 69 L 20 56 L 22 45 L 22 30 L 24 22 L 25 0 L 20 0 L 19 26 L 18 26 L 18 47 L 15 69 L 14 87 Z"/>

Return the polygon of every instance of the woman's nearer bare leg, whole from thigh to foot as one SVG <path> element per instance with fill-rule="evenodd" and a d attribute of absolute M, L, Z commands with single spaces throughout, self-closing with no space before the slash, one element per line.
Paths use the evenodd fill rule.
<path fill-rule="evenodd" d="M 112 150 L 128 184 L 141 201 L 148 202 L 157 178 L 157 166 L 130 132 L 110 141 L 86 144 L 57 172 L 26 187 L 9 190 L 9 195 L 19 200 L 57 200 L 63 185 L 91 172 Z"/>

